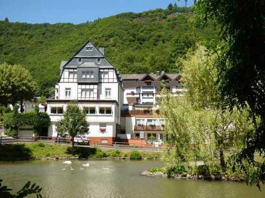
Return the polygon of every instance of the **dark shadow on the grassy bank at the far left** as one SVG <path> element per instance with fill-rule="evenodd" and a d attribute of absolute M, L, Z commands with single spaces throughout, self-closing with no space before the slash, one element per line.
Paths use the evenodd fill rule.
<path fill-rule="evenodd" d="M 0 145 L 0 161 L 29 160 L 32 152 L 24 144 Z"/>

